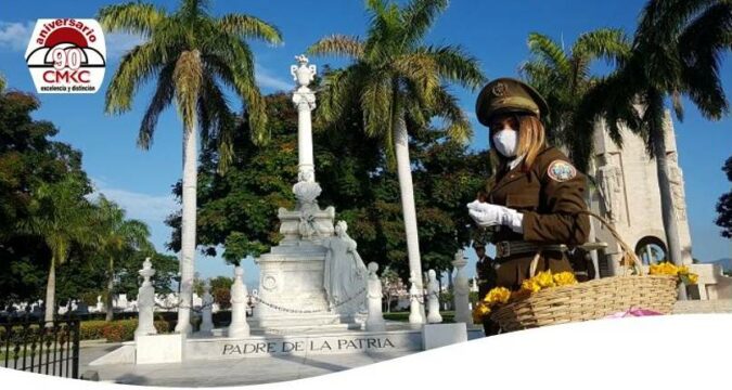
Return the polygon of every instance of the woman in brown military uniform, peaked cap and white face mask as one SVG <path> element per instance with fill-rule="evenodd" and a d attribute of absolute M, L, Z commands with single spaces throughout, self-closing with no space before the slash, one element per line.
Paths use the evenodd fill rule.
<path fill-rule="evenodd" d="M 521 287 L 537 253 L 536 272 L 573 271 L 566 247 L 583 244 L 590 230 L 587 214 L 577 213 L 587 209 L 585 177 L 547 145 L 545 101 L 530 86 L 500 78 L 480 91 L 476 113 L 499 164 L 485 197 L 467 208 L 479 226 L 495 231 L 497 285 Z"/>

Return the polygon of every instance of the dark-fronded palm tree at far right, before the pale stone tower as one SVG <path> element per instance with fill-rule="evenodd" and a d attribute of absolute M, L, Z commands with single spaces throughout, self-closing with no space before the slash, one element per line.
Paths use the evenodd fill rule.
<path fill-rule="evenodd" d="M 650 0 L 635 30 L 632 50 L 619 69 L 588 92 L 578 126 L 591 131 L 604 116 L 609 135 L 621 144 L 619 123 L 640 134 L 656 160 L 668 257 L 681 264 L 677 217 L 669 183 L 664 123 L 665 101 L 683 120 L 682 95 L 707 119 L 729 110 L 719 78 L 721 54 L 732 48 L 732 2 L 728 0 Z M 640 109 L 638 107 L 641 107 Z M 580 130 L 581 131 L 581 130 Z M 679 289 L 679 299 L 685 299 Z"/>

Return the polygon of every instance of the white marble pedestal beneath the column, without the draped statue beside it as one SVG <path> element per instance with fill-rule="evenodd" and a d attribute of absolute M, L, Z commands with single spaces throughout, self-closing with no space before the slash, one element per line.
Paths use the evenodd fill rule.
<path fill-rule="evenodd" d="M 284 238 L 256 263 L 259 289 L 249 324 L 268 333 L 292 333 L 310 327 L 360 329 L 359 308 L 365 290 L 331 307 L 323 286 L 326 249 L 323 237 L 333 235 L 335 209 L 297 210 L 281 208 L 280 233 Z"/>

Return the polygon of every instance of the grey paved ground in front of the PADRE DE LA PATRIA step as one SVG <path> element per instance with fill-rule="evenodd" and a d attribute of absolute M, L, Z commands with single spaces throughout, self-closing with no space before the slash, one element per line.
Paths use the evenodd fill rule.
<path fill-rule="evenodd" d="M 270 384 L 355 368 L 413 352 L 271 356 L 178 364 L 115 364 L 89 366 L 89 362 L 118 348 L 119 343 L 85 347 L 79 373 L 95 370 L 100 381 L 168 387 L 215 387 Z"/>

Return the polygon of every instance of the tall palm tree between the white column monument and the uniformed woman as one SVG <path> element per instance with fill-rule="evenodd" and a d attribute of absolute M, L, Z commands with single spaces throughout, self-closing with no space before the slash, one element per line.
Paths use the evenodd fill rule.
<path fill-rule="evenodd" d="M 485 81 L 477 61 L 461 48 L 423 43 L 447 3 L 412 0 L 400 8 L 384 0 L 369 0 L 371 23 L 364 39 L 333 35 L 308 49 L 310 54 L 352 61 L 350 66 L 325 76 L 319 115 L 326 123 L 337 126 L 349 104 L 356 104 L 363 114 L 365 133 L 383 140 L 389 168 L 396 160 L 409 269 L 415 275 L 422 275 L 422 266 L 407 123 L 421 128 L 433 116 L 439 116 L 446 120 L 450 138 L 468 139 L 470 121 L 444 82 L 476 88 Z M 421 277 L 418 283 L 421 285 Z"/>

